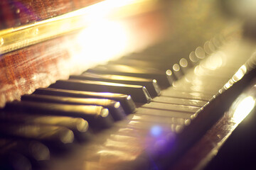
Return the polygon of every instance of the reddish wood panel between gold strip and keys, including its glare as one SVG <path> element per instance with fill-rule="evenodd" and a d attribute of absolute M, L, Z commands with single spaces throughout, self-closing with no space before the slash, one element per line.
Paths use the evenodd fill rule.
<path fill-rule="evenodd" d="M 48 2 L 50 4 L 50 1 Z M 129 39 L 124 38 L 122 40 L 125 41 L 122 42 L 125 46 L 123 53 L 141 50 L 159 40 L 161 33 L 163 33 L 161 22 L 161 14 L 157 12 L 124 18 L 123 21 L 117 22 L 117 28 L 122 26 L 124 27 L 122 29 L 129 32 L 127 34 Z M 70 74 L 78 74 L 95 64 L 99 64 L 95 63 L 95 60 L 90 60 L 91 55 L 95 55 L 90 54 L 90 52 L 94 51 L 92 49 L 97 51 L 106 45 L 105 43 L 90 43 L 90 40 L 93 41 L 97 38 L 97 31 L 93 32 L 95 38 L 90 36 L 90 38 L 85 38 L 83 42 L 80 42 L 80 33 L 86 33 L 86 31 L 85 29 L 81 32 L 63 35 L 53 40 L 0 55 L 0 107 L 4 106 L 6 101 L 19 99 L 21 95 L 31 94 L 35 89 L 49 86 L 57 79 L 67 79 Z M 92 33 L 92 29 L 89 28 L 89 31 Z M 107 29 L 103 33 L 106 36 L 100 33 L 100 40 L 110 44 L 107 52 L 111 54 L 112 50 L 119 52 L 119 49 L 112 43 L 116 32 Z M 84 35 L 82 34 L 82 36 Z M 112 41 L 110 41 L 110 37 L 113 37 Z M 108 56 L 108 54 L 105 55 Z M 101 56 L 96 57 L 101 60 Z M 102 58 L 102 60 L 108 60 L 108 58 Z"/>

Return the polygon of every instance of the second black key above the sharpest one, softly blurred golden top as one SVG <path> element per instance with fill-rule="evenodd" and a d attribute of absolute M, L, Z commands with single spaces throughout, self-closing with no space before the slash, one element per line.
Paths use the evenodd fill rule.
<path fill-rule="evenodd" d="M 159 71 L 158 69 L 141 69 L 139 67 L 126 66 L 122 64 L 99 65 L 93 69 L 87 69 L 86 72 L 156 79 L 159 86 L 164 89 L 171 86 L 173 81 L 175 81 L 175 77 L 170 69 L 167 69 L 166 71 Z"/>

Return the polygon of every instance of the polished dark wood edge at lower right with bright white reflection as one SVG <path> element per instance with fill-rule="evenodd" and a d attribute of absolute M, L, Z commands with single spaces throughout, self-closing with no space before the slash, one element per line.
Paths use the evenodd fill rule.
<path fill-rule="evenodd" d="M 181 161 L 174 166 L 174 170 L 203 169 L 218 154 L 220 147 L 242 120 L 249 114 L 255 114 L 255 100 L 254 82 L 238 96 L 213 128 L 210 128 L 206 135 L 183 155 Z"/>

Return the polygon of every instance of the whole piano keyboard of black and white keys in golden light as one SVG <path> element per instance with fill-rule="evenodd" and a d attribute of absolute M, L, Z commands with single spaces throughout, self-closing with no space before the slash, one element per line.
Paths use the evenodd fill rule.
<path fill-rule="evenodd" d="M 245 71 L 250 56 L 225 55 L 222 43 L 187 58 L 152 47 L 6 103 L 0 169 L 167 169 L 218 120 L 208 108 Z"/>

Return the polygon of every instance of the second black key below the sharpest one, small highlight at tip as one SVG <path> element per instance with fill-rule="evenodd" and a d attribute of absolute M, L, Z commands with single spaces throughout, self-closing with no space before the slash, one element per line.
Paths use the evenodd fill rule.
<path fill-rule="evenodd" d="M 114 120 L 122 120 L 125 118 L 124 109 L 120 105 L 119 101 L 113 101 L 105 98 L 72 98 L 63 96 L 31 94 L 21 96 L 21 101 L 103 106 L 110 111 L 110 114 L 112 115 Z"/>

